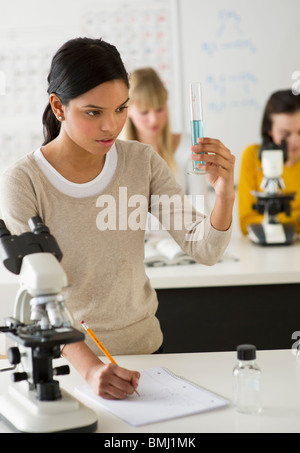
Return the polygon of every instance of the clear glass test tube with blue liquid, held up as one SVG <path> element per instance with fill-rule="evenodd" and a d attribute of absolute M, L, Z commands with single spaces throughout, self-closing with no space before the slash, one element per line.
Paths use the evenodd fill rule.
<path fill-rule="evenodd" d="M 192 145 L 198 145 L 198 138 L 203 137 L 202 93 L 201 83 L 190 83 L 190 108 L 191 108 L 191 138 Z M 197 168 L 198 164 L 205 163 L 201 160 L 193 160 L 193 168 L 189 172 L 194 175 L 205 175 L 207 172 Z"/>

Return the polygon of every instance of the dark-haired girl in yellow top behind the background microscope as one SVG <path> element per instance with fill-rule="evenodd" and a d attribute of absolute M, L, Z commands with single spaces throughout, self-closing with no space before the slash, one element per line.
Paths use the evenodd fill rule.
<path fill-rule="evenodd" d="M 291 202 L 291 216 L 280 213 L 282 223 L 292 222 L 300 233 L 300 96 L 291 90 L 277 91 L 271 95 L 263 114 L 261 135 L 265 142 L 280 145 L 287 142 L 288 158 L 283 169 L 285 191 L 296 192 Z M 260 191 L 263 179 L 258 151 L 260 145 L 251 145 L 245 149 L 241 162 L 238 184 L 239 220 L 243 234 L 247 234 L 250 223 L 260 223 L 263 215 L 252 208 L 256 199 L 252 191 Z"/>

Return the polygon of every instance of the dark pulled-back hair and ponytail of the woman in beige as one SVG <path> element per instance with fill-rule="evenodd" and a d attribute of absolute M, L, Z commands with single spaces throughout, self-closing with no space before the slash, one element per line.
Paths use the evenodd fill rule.
<path fill-rule="evenodd" d="M 48 75 L 48 94 L 55 93 L 63 105 L 104 82 L 121 79 L 129 87 L 128 74 L 115 46 L 102 39 L 76 38 L 54 55 Z M 60 132 L 50 102 L 43 113 L 44 143 Z"/>

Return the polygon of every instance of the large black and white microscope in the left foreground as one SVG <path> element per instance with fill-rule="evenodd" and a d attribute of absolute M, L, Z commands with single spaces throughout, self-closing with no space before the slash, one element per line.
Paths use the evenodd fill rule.
<path fill-rule="evenodd" d="M 0 258 L 20 276 L 14 315 L 0 332 L 15 344 L 8 349 L 16 370 L 8 392 L 0 395 L 0 418 L 24 433 L 94 432 L 96 414 L 60 389 L 54 378 L 70 373 L 69 366 L 53 368 L 61 345 L 84 340 L 72 327 L 71 315 L 61 291 L 68 285 L 60 265 L 62 253 L 40 217 L 28 222 L 31 232 L 11 235 L 0 220 Z"/>

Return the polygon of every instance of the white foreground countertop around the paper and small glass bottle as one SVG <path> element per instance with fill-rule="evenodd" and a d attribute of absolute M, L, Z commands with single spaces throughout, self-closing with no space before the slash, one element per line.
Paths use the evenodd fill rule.
<path fill-rule="evenodd" d="M 173 373 L 219 395 L 232 399 L 232 369 L 236 352 L 162 354 L 116 357 L 119 365 L 142 370 L 154 366 L 167 367 Z M 292 350 L 258 351 L 257 362 L 262 370 L 263 410 L 245 415 L 228 408 L 178 418 L 142 427 L 133 427 L 104 408 L 81 397 L 81 401 L 98 415 L 99 433 L 209 433 L 209 432 L 300 432 L 300 360 Z M 6 361 L 0 360 L 3 368 Z M 61 365 L 63 359 L 54 361 Z M 5 392 L 10 372 L 0 373 L 0 392 Z M 76 371 L 59 378 L 61 387 L 70 393 L 84 381 Z M 1 411 L 1 408 L 0 408 Z M 0 422 L 0 432 L 10 432 Z"/>

